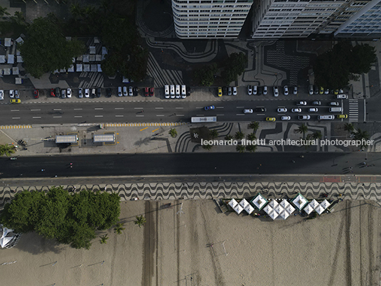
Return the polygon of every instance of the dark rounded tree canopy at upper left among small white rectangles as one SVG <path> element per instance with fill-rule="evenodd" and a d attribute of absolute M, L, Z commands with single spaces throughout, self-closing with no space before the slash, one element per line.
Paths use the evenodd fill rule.
<path fill-rule="evenodd" d="M 66 41 L 57 23 L 48 18 L 36 18 L 27 29 L 20 45 L 26 71 L 35 78 L 61 68 L 69 68 L 72 58 L 84 52 L 80 41 Z"/>

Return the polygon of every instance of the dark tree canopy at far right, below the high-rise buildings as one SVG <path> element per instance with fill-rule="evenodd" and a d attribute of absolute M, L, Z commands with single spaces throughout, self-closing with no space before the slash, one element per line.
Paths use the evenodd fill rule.
<path fill-rule="evenodd" d="M 348 85 L 355 75 L 367 73 L 375 63 L 375 48 L 367 44 L 352 46 L 342 41 L 333 46 L 331 51 L 316 58 L 313 65 L 316 84 L 325 88 L 338 89 Z"/>

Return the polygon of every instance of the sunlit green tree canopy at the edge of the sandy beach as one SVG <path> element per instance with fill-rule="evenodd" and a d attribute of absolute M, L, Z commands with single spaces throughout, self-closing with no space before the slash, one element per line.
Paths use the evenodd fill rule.
<path fill-rule="evenodd" d="M 82 190 L 69 194 L 53 187 L 48 194 L 23 191 L 6 204 L 0 215 L 4 226 L 19 233 L 36 231 L 45 238 L 73 248 L 91 246 L 95 231 L 111 228 L 119 220 L 117 194 Z"/>

